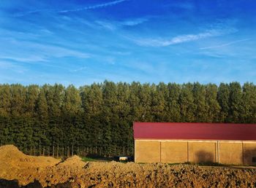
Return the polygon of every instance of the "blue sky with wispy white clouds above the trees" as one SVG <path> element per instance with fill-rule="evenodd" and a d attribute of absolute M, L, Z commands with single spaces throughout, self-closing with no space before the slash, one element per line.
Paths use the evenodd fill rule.
<path fill-rule="evenodd" d="M 256 83 L 256 1 L 0 1 L 0 82 Z"/>

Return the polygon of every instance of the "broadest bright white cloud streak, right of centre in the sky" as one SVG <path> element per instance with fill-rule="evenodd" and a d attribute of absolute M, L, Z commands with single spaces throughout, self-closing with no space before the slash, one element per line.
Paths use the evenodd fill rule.
<path fill-rule="evenodd" d="M 173 37 L 172 39 L 133 39 L 134 42 L 140 46 L 146 47 L 167 47 L 173 44 L 181 44 L 184 42 L 192 42 L 200 39 L 206 39 L 212 36 L 222 36 L 224 34 L 234 33 L 235 28 L 228 29 L 210 29 L 199 34 L 184 34 Z"/>

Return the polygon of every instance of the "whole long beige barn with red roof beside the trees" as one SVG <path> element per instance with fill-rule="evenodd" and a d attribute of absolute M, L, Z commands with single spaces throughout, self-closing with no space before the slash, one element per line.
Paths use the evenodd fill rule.
<path fill-rule="evenodd" d="M 256 124 L 134 122 L 135 162 L 256 165 Z"/>

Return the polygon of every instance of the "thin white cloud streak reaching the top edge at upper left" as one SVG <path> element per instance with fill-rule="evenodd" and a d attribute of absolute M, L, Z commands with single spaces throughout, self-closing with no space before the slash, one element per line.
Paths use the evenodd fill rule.
<path fill-rule="evenodd" d="M 104 7 L 110 7 L 110 6 L 119 4 L 119 3 L 124 2 L 124 1 L 127 1 L 127 0 L 110 1 L 110 2 L 107 2 L 107 3 L 94 4 L 94 5 L 91 5 L 91 6 L 77 8 L 77 9 L 34 9 L 34 10 L 27 11 L 27 12 L 19 12 L 18 14 L 15 14 L 14 17 L 23 17 L 25 15 L 34 14 L 34 13 L 37 13 L 37 12 L 67 13 L 67 12 L 84 11 L 84 10 L 87 10 L 87 9 L 100 9 L 100 8 L 104 8 Z"/>

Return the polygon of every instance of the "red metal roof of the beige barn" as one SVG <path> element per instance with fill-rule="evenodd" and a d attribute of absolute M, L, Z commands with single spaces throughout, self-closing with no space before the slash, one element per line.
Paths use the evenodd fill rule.
<path fill-rule="evenodd" d="M 134 122 L 134 138 L 256 141 L 256 124 Z"/>

